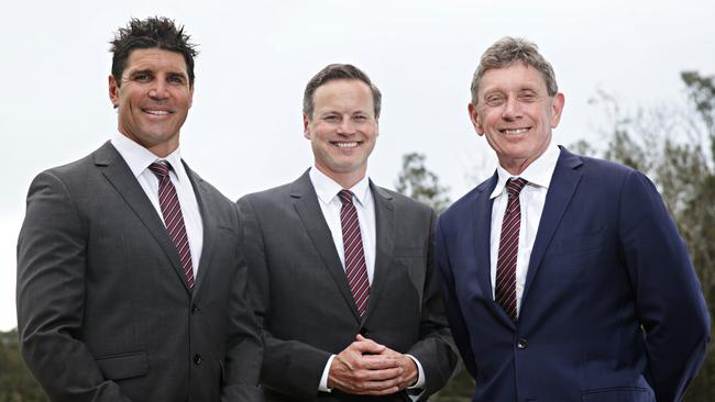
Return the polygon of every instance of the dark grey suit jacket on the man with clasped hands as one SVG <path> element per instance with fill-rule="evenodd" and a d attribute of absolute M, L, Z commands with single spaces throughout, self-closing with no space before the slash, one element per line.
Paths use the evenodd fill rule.
<path fill-rule="evenodd" d="M 442 388 L 454 369 L 457 354 L 435 266 L 435 213 L 370 186 L 377 242 L 362 319 L 308 172 L 239 201 L 251 292 L 264 327 L 261 382 L 270 401 L 361 400 L 338 391 L 318 392 L 330 355 L 359 333 L 415 356 L 425 369 L 425 398 Z M 406 398 L 402 392 L 382 400 Z"/>

